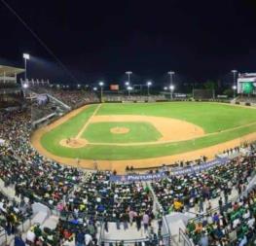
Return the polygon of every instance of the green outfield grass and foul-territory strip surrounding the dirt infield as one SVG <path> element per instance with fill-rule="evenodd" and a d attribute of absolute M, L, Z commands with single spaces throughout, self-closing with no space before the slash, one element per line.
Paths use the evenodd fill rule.
<path fill-rule="evenodd" d="M 42 145 L 56 156 L 66 158 L 90 158 L 90 159 L 132 159 L 132 158 L 156 158 L 168 155 L 180 154 L 198 150 L 222 142 L 226 142 L 251 132 L 256 131 L 256 111 L 250 108 L 235 107 L 217 103 L 199 102 L 175 102 L 152 104 L 104 104 L 97 115 L 146 115 L 175 118 L 200 125 L 205 132 L 218 132 L 218 134 L 204 136 L 189 141 L 181 141 L 168 144 L 142 145 L 142 146 L 106 146 L 88 145 L 85 148 L 69 149 L 60 146 L 61 139 L 75 136 L 90 118 L 95 109 L 91 105 L 67 123 L 57 126 L 47 132 L 41 139 Z M 219 130 L 231 129 L 248 123 L 227 132 Z M 116 123 L 115 123 L 116 124 Z M 92 124 L 89 125 L 91 127 Z M 98 129 L 101 130 L 101 129 Z M 86 135 L 89 133 L 85 133 Z M 91 134 L 91 133 L 90 133 Z M 149 133 L 151 134 L 151 133 Z M 124 136 L 124 135 L 123 135 Z M 100 134 L 98 134 L 100 137 Z M 103 136 L 106 138 L 109 136 Z M 87 137 L 88 138 L 88 137 Z M 140 135 L 137 139 L 140 140 Z M 106 140 L 108 141 L 108 140 Z M 102 142 L 102 141 L 101 141 Z M 135 142 L 135 140 L 134 140 Z"/>

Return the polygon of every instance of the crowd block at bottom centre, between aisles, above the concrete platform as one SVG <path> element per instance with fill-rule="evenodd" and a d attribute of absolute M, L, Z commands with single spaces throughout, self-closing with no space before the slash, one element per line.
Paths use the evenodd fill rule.
<path fill-rule="evenodd" d="M 125 229 L 136 223 L 137 229 L 148 228 L 154 219 L 153 196 L 142 183 L 116 184 L 109 182 L 109 174 L 87 174 L 83 183 L 69 195 L 65 205 L 60 206 L 61 216 L 70 221 L 85 221 L 88 217 L 115 222 L 117 228 Z"/>

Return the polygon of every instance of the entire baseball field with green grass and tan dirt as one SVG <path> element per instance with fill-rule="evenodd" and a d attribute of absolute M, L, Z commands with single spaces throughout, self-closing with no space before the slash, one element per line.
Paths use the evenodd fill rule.
<path fill-rule="evenodd" d="M 123 170 L 214 156 L 256 139 L 253 108 L 210 102 L 93 104 L 34 132 L 32 145 L 68 164 Z"/>

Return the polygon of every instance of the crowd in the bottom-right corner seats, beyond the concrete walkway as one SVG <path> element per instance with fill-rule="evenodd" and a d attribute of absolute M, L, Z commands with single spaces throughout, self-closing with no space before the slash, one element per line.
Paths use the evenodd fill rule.
<path fill-rule="evenodd" d="M 195 245 L 250 245 L 255 239 L 255 219 L 256 190 L 253 190 L 199 221 L 190 221 L 187 233 Z"/>

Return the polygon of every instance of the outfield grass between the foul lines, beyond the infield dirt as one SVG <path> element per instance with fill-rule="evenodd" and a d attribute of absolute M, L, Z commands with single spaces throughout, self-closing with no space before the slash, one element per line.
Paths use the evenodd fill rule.
<path fill-rule="evenodd" d="M 103 104 L 97 115 L 145 115 L 174 118 L 216 132 L 256 121 L 256 110 L 207 102 Z"/>

